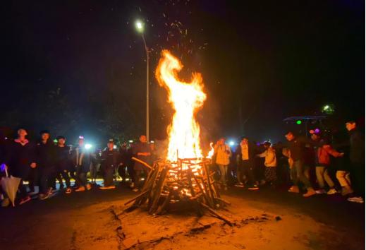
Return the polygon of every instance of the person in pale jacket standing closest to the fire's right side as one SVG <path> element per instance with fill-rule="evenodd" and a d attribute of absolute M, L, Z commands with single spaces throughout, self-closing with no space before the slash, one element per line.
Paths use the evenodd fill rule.
<path fill-rule="evenodd" d="M 220 169 L 220 182 L 224 185 L 224 189 L 227 189 L 228 181 L 228 165 L 230 163 L 231 149 L 229 145 L 225 143 L 225 138 L 220 138 L 214 146 L 214 154 L 216 154 L 216 165 Z"/>

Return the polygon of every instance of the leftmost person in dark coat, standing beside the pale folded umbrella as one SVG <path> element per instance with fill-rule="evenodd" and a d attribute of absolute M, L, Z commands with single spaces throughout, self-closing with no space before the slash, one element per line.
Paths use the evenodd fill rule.
<path fill-rule="evenodd" d="M 21 179 L 18 188 L 20 205 L 31 200 L 23 180 L 28 178 L 31 168 L 37 167 L 35 145 L 25 138 L 27 134 L 25 129 L 18 130 L 18 138 L 9 143 L 6 148 L 4 162 L 6 169 L 8 169 L 8 174 Z"/>

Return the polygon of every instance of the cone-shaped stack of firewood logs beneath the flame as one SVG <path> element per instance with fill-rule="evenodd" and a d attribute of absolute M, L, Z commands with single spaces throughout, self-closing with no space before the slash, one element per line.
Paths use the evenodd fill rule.
<path fill-rule="evenodd" d="M 150 172 L 142 187 L 141 193 L 125 205 L 132 203 L 130 208 L 147 205 L 150 214 L 160 215 L 169 211 L 173 206 L 188 206 L 195 208 L 199 215 L 203 210 L 231 224 L 224 216 L 214 209 L 220 208 L 227 201 L 219 194 L 218 185 L 209 172 L 209 159 L 178 159 L 177 162 L 157 161 L 152 167 L 146 162 L 139 161 Z"/>

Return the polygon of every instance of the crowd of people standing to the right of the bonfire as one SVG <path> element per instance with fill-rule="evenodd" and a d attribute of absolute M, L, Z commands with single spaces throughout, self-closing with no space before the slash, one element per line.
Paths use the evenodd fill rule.
<path fill-rule="evenodd" d="M 347 121 L 349 140 L 331 143 L 319 129 L 310 138 L 286 133 L 286 143 L 254 143 L 248 137 L 232 148 L 219 139 L 214 146 L 214 169 L 223 189 L 235 185 L 249 190 L 260 186 L 289 186 L 303 197 L 341 194 L 348 201 L 363 203 L 365 197 L 365 136 L 355 121 Z"/>

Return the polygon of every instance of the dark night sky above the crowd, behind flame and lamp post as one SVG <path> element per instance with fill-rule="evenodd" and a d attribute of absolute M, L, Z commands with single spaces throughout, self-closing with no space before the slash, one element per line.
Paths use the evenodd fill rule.
<path fill-rule="evenodd" d="M 4 130 L 70 141 L 145 133 L 137 18 L 152 57 L 151 138 L 166 137 L 172 114 L 154 78 L 161 49 L 182 60 L 186 81 L 203 75 L 204 140 L 283 140 L 284 118 L 325 104 L 339 124 L 365 117 L 365 1 L 13 1 L 4 11 Z"/>

